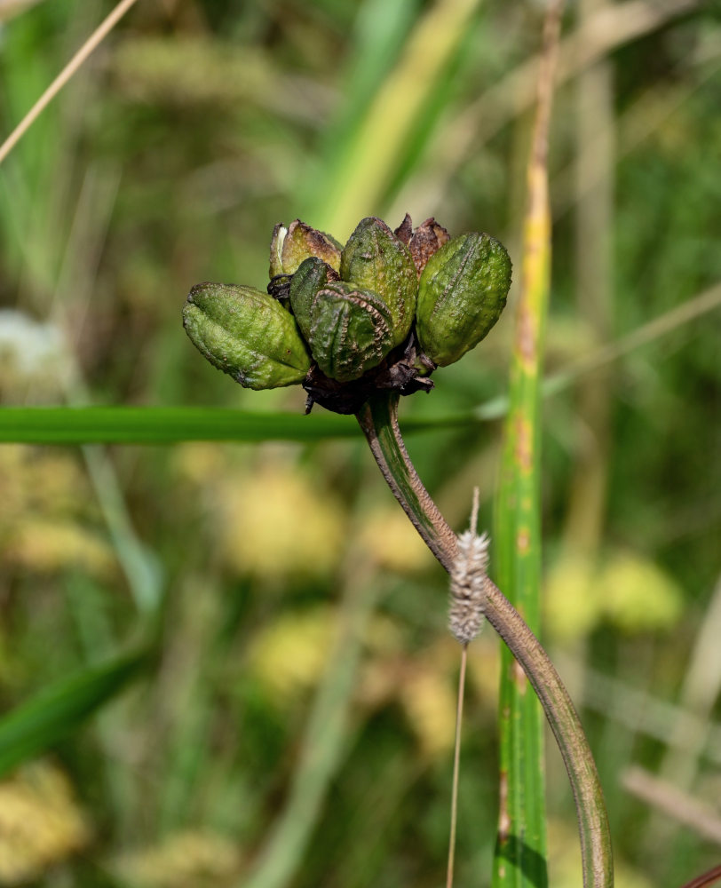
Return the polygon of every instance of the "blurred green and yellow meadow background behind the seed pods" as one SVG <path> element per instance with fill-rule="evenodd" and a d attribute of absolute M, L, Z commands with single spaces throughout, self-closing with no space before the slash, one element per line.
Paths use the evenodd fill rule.
<path fill-rule="evenodd" d="M 3 133 L 111 8 L 0 2 Z M 299 388 L 247 392 L 202 360 L 187 290 L 264 287 L 276 222 L 344 240 L 408 210 L 501 238 L 516 284 L 401 424 L 493 413 L 542 16 L 500 0 L 140 0 L 0 168 L 4 404 L 300 413 Z M 692 0 L 579 0 L 563 41 L 543 639 L 597 756 L 617 884 L 673 888 L 721 857 L 721 19 Z M 499 433 L 408 438 L 459 530 L 474 485 L 491 526 Z M 3 711 L 71 681 L 3 767 L 0 884 L 442 883 L 446 576 L 360 433 L 5 445 L 0 496 Z M 139 649 L 131 669 L 113 659 Z M 497 656 L 487 630 L 470 650 L 458 885 L 490 882 Z M 75 676 L 107 703 L 83 725 Z M 0 719 L 3 755 L 8 736 Z M 571 888 L 552 741 L 548 775 L 550 881 Z"/>

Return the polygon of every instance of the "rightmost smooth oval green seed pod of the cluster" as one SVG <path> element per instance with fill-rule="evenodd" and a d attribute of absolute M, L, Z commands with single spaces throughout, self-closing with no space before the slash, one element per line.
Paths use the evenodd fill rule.
<path fill-rule="evenodd" d="M 418 342 L 446 367 L 479 344 L 506 304 L 511 259 L 489 234 L 461 234 L 428 260 L 416 311 Z"/>

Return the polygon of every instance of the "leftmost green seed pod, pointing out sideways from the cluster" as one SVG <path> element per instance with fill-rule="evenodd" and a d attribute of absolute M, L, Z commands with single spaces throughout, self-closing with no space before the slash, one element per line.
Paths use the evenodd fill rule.
<path fill-rule="evenodd" d="M 311 366 L 292 314 L 252 287 L 199 283 L 183 309 L 196 348 L 245 388 L 277 388 L 305 378 Z"/>

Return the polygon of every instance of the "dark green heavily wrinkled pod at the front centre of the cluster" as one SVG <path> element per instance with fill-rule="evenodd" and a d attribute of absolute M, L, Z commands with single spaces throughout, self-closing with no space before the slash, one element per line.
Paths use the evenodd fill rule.
<path fill-rule="evenodd" d="M 300 295 L 291 284 L 290 303 L 313 358 L 331 379 L 358 379 L 392 349 L 391 314 L 370 290 L 330 281 L 306 301 L 305 291 Z"/>

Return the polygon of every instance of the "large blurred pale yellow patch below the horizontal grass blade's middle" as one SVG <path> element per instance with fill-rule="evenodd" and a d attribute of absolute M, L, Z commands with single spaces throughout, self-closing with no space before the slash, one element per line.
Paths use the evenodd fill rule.
<path fill-rule="evenodd" d="M 220 493 L 221 550 L 235 571 L 280 580 L 326 574 L 337 564 L 344 510 L 296 466 L 263 464 Z"/>

